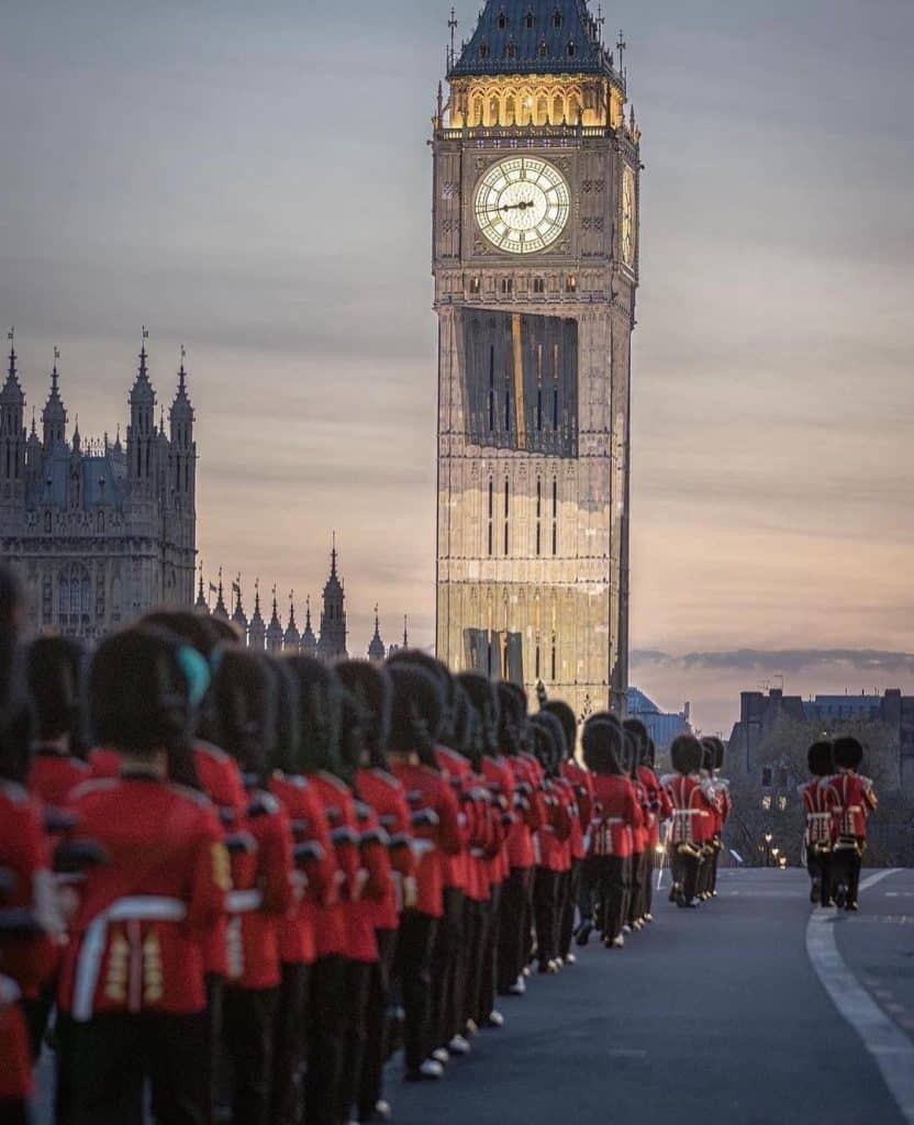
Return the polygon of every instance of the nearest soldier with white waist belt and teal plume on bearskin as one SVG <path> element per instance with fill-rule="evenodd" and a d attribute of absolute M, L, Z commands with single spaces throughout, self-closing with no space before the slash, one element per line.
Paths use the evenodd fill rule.
<path fill-rule="evenodd" d="M 61 972 L 64 1125 L 140 1119 L 147 1079 L 160 1119 L 208 1119 L 201 942 L 225 908 L 228 857 L 209 802 L 168 780 L 207 678 L 198 652 L 152 629 L 108 638 L 92 662 L 91 724 L 123 764 L 70 796 L 70 838 L 106 862 L 87 873 Z"/>

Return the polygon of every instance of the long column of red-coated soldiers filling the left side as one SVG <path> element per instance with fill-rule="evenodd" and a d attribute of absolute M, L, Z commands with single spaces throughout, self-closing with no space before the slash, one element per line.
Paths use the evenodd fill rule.
<path fill-rule="evenodd" d="M 440 1079 L 498 997 L 653 920 L 664 821 L 671 898 L 715 893 L 716 740 L 662 783 L 639 722 L 422 652 L 331 668 L 162 612 L 90 655 L 18 622 L 0 570 L 5 1122 L 39 1053 L 65 1125 L 385 1119 L 397 1053 Z"/>

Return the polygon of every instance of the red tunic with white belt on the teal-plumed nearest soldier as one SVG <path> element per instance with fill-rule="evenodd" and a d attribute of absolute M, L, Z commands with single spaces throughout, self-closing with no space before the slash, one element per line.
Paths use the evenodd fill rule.
<path fill-rule="evenodd" d="M 73 790 L 71 836 L 107 862 L 89 870 L 63 957 L 60 1005 L 93 1012 L 185 1015 L 205 1002 L 200 937 L 225 910 L 228 856 L 209 801 L 147 777 Z"/>

